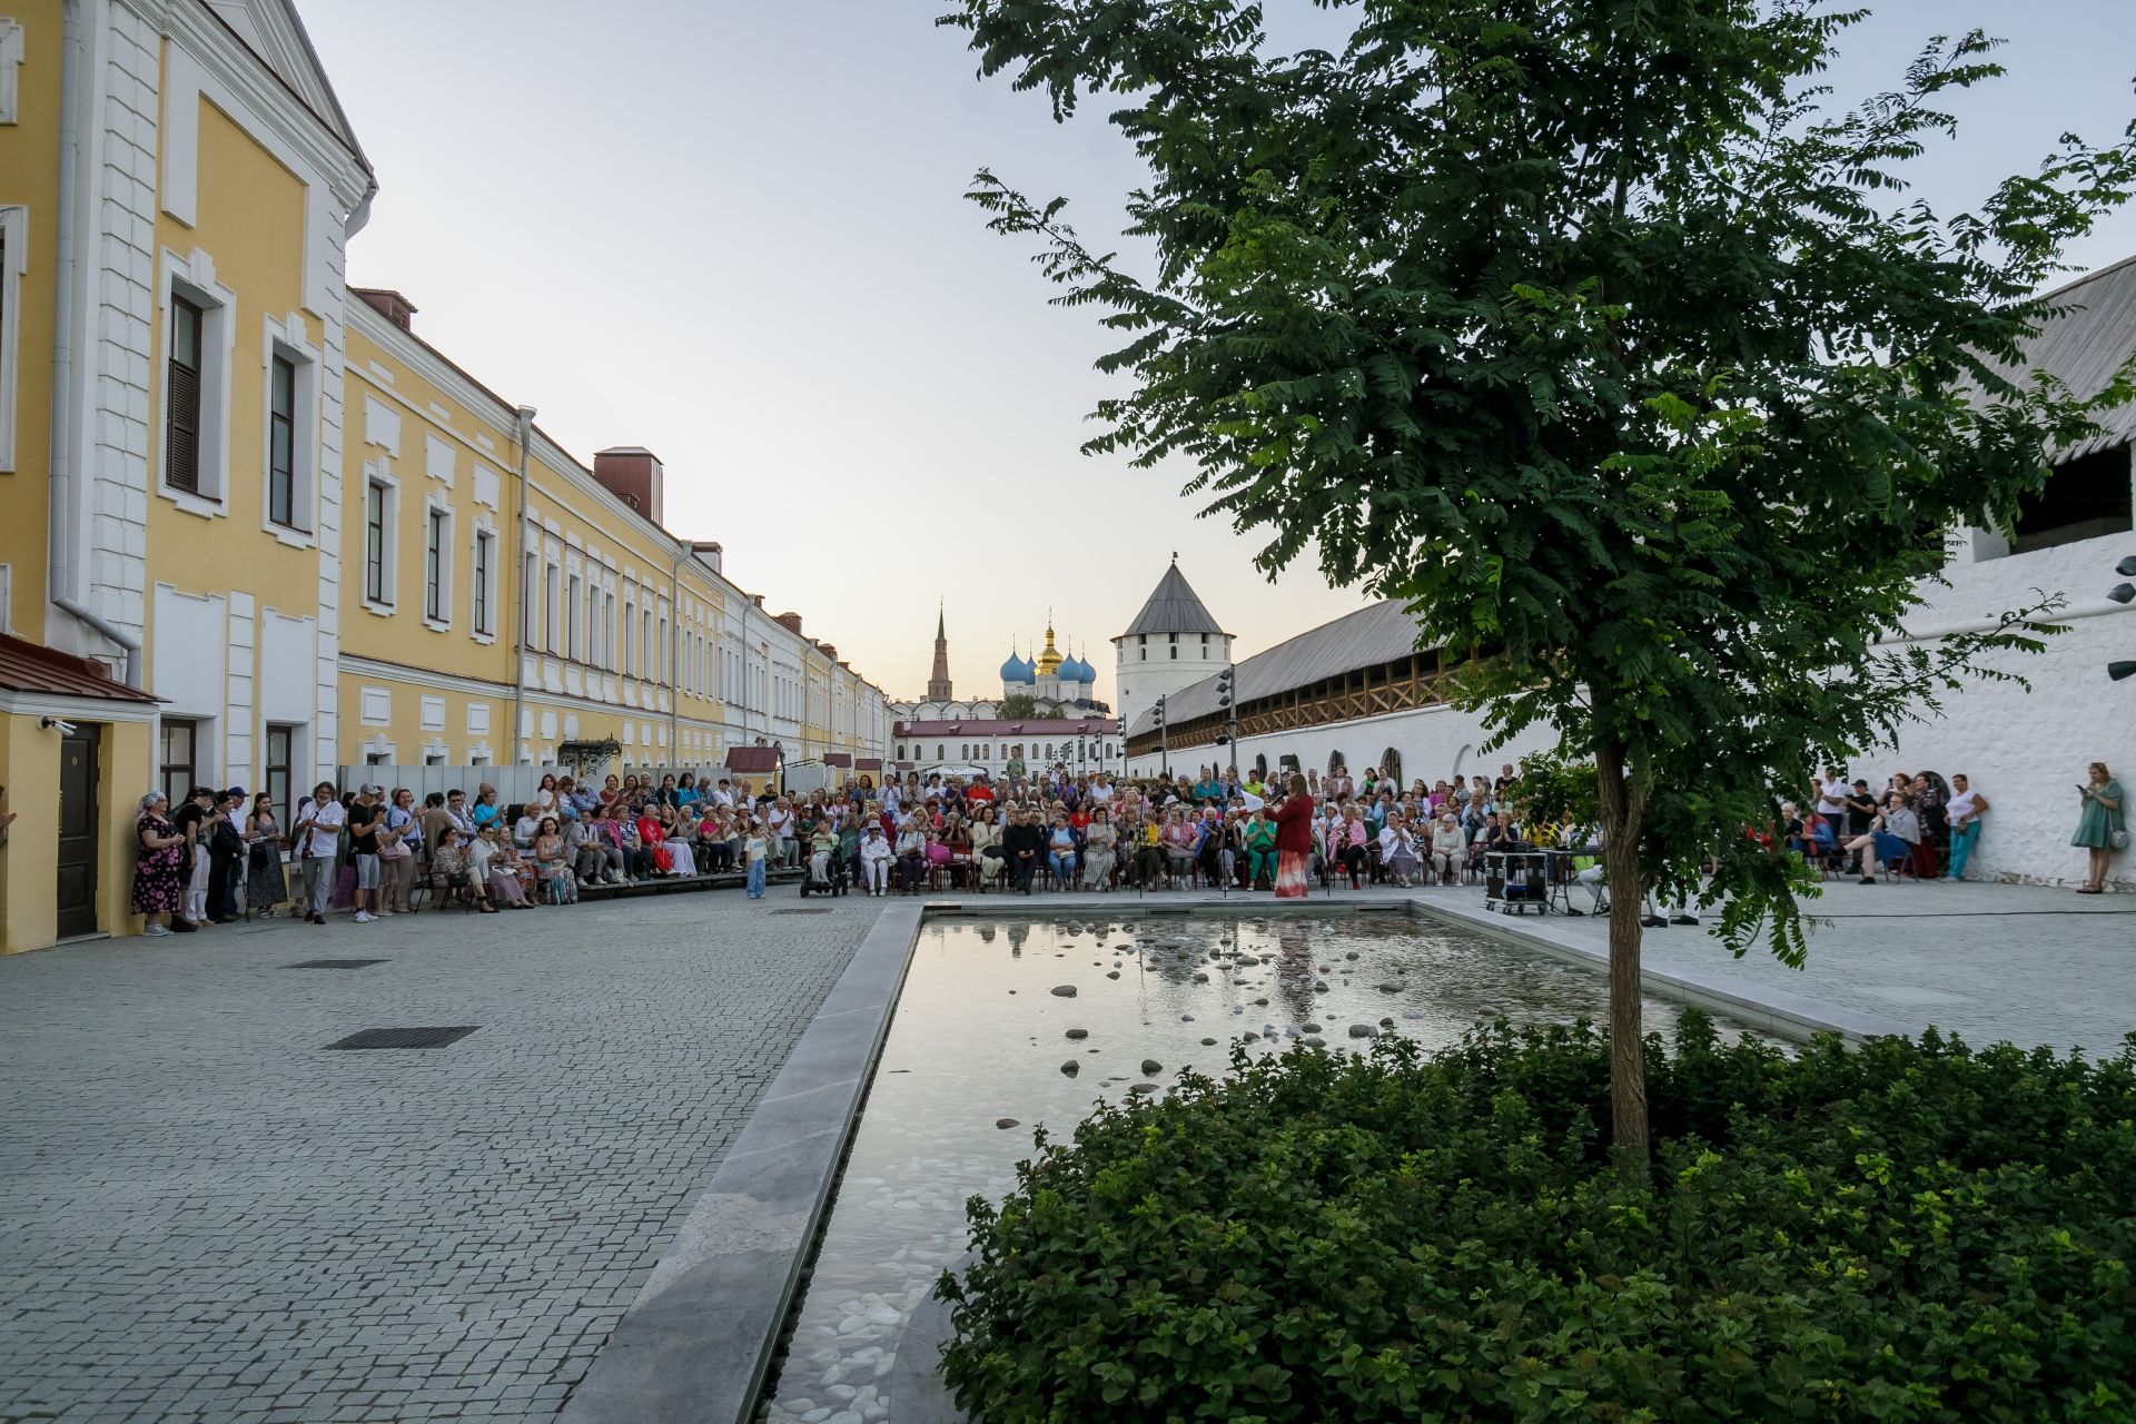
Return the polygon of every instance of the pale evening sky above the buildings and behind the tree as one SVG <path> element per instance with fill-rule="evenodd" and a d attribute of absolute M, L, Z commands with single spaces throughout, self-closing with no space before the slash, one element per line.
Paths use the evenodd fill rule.
<path fill-rule="evenodd" d="M 961 696 L 1000 690 L 1047 608 L 1098 664 L 1171 551 L 1252 653 L 1361 604 L 1307 564 L 1196 519 L 1185 468 L 1077 453 L 1109 333 L 1062 312 L 1030 248 L 963 201 L 991 167 L 1064 194 L 1098 246 L 1138 177 L 1102 105 L 1059 128 L 1036 94 L 978 83 L 948 0 L 299 0 L 378 171 L 350 248 L 359 286 L 579 459 L 643 444 L 666 523 L 797 608 L 895 696 L 927 679 L 936 602 Z M 1277 43 L 1331 43 L 1305 0 Z M 1920 196 L 1972 205 L 2063 130 L 2132 113 L 2127 0 L 1886 0 L 1848 38 L 1839 98 L 1897 83 L 1929 34 L 1982 26 L 2012 75 L 1965 100 Z M 2123 211 L 2076 252 L 2136 252 Z"/>

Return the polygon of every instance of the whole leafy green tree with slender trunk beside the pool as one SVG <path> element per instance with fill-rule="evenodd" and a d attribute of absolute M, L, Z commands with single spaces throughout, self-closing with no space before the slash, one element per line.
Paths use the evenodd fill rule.
<path fill-rule="evenodd" d="M 1860 11 L 1807 0 L 1320 0 L 1273 51 L 1243 0 L 961 0 L 980 73 L 1055 117 L 1104 96 L 1147 162 L 1149 275 L 983 171 L 1130 389 L 1085 448 L 1192 461 L 1275 574 L 1405 600 L 1476 649 L 1495 737 L 1598 769 L 1613 886 L 1613 1136 L 1643 1170 L 1640 895 L 1705 888 L 1741 954 L 1803 961 L 1811 888 L 1747 830 L 2051 608 L 1933 645 L 1903 617 L 1967 523 L 2014 517 L 2078 397 L 2025 369 L 2066 243 L 2136 179 L 2136 126 L 2068 137 L 1974 211 L 1907 201 L 1942 107 L 2001 70 L 1931 41 L 1890 94 L 1818 75 Z"/>

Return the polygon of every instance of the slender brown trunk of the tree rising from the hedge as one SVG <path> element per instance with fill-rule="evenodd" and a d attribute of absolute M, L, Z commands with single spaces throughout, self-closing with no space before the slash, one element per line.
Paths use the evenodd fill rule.
<path fill-rule="evenodd" d="M 1647 1181 L 1647 1057 L 1640 1025 L 1640 873 L 1638 839 L 1645 828 L 1647 786 L 1636 771 L 1625 777 L 1621 741 L 1596 743 L 1596 784 L 1602 803 L 1602 867 L 1608 873 L 1608 1097 L 1611 1142 L 1617 1172 L 1628 1183 Z"/>

